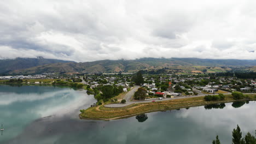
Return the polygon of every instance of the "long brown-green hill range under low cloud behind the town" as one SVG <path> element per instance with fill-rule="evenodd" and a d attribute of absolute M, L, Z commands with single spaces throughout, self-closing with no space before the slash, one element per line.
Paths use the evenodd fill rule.
<path fill-rule="evenodd" d="M 53 60 L 53 59 L 52 59 Z M 59 61 L 59 60 L 57 60 Z M 1 64 L 0 64 L 1 65 Z M 138 70 L 167 69 L 179 73 L 216 73 L 231 68 L 248 67 L 254 70 L 256 60 L 239 59 L 199 59 L 199 58 L 141 58 L 135 60 L 102 60 L 94 62 L 58 62 L 38 64 L 37 67 L 15 69 L 8 74 L 42 74 L 42 73 L 113 73 L 135 72 Z M 2 67 L 2 65 L 1 65 Z"/>

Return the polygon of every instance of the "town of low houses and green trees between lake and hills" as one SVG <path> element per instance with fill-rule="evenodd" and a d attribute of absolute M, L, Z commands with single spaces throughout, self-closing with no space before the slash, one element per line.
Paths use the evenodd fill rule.
<path fill-rule="evenodd" d="M 88 94 L 94 94 L 98 101 L 108 101 L 114 99 L 120 93 L 130 91 L 136 84 L 143 88 L 144 95 L 135 97 L 134 100 L 151 100 L 158 98 L 175 98 L 181 96 L 203 96 L 207 94 L 218 93 L 255 93 L 256 81 L 254 79 L 240 79 L 236 75 L 217 76 L 216 74 L 141 74 L 142 80 L 136 83 L 136 74 L 79 74 L 70 73 L 66 75 L 59 74 L 41 74 L 41 75 L 14 75 L 0 76 L 1 83 L 17 82 L 20 80 L 22 84 L 36 85 L 70 85 L 84 88 Z M 138 75 L 137 73 L 137 75 Z M 119 89 L 107 96 L 107 98 L 99 98 L 102 94 L 102 88 L 111 86 L 111 88 Z M 115 91 L 115 90 L 114 90 Z M 97 98 L 98 97 L 98 98 Z M 118 100 L 119 102 L 121 101 Z M 100 102 L 100 104 L 102 101 Z"/>

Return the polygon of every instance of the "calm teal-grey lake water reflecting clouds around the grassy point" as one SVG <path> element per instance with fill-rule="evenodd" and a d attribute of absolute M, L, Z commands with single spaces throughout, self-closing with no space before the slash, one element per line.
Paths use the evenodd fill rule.
<path fill-rule="evenodd" d="M 78 118 L 95 103 L 72 88 L 0 85 L 0 143 L 211 143 L 219 135 L 231 143 L 231 131 L 256 129 L 256 104 L 227 103 L 152 112 L 115 121 Z"/>

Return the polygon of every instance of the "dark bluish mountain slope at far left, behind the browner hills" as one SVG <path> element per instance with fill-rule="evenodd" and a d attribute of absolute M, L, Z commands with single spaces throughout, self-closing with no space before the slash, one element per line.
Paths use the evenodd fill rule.
<path fill-rule="evenodd" d="M 0 74 L 9 73 L 12 70 L 27 69 L 38 65 L 67 63 L 71 61 L 62 61 L 58 59 L 38 58 L 15 58 L 15 59 L 0 59 Z"/>

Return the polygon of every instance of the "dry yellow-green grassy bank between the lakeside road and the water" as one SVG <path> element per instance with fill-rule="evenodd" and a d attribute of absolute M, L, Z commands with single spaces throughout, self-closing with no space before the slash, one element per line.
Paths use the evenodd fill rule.
<path fill-rule="evenodd" d="M 225 95 L 224 100 L 206 101 L 205 97 L 193 97 L 184 99 L 173 99 L 158 102 L 149 103 L 136 103 L 125 107 L 110 108 L 105 107 L 104 104 L 96 107 L 90 107 L 89 109 L 82 110 L 79 117 L 82 119 L 121 119 L 139 115 L 141 113 L 153 112 L 153 111 L 165 111 L 172 109 L 180 109 L 191 106 L 200 106 L 207 104 L 229 103 L 233 101 L 245 101 L 256 100 L 256 94 L 249 94 L 246 98 L 241 100 L 235 100 L 232 95 Z"/>

